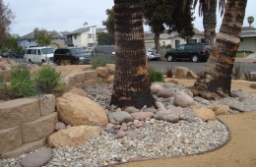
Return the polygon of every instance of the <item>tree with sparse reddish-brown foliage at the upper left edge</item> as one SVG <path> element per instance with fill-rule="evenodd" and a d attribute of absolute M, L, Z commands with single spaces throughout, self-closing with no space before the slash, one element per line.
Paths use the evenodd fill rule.
<path fill-rule="evenodd" d="M 0 47 L 9 37 L 10 26 L 15 19 L 13 12 L 0 0 Z"/>

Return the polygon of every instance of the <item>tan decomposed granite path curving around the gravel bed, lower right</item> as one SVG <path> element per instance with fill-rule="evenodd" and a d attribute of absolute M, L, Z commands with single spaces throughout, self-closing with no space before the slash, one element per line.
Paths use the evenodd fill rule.
<path fill-rule="evenodd" d="M 138 161 L 111 167 L 256 167 L 256 112 L 221 115 L 231 139 L 221 148 L 200 155 Z"/>

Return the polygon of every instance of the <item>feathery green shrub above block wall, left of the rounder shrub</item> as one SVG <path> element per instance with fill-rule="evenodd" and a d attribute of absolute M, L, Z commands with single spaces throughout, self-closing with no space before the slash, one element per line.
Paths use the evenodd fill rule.
<path fill-rule="evenodd" d="M 12 67 L 10 73 L 10 98 L 20 98 L 37 94 L 31 79 L 30 69 L 26 65 Z"/>

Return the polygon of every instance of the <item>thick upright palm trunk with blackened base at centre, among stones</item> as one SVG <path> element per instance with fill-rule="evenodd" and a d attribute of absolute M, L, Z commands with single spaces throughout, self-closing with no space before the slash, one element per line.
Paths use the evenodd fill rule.
<path fill-rule="evenodd" d="M 141 0 L 114 0 L 115 81 L 111 104 L 125 108 L 152 106 Z"/>

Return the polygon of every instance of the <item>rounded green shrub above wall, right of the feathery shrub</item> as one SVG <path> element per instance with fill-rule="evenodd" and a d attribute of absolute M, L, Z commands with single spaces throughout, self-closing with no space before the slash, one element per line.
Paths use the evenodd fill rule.
<path fill-rule="evenodd" d="M 54 67 L 44 66 L 40 68 L 33 77 L 35 87 L 39 93 L 52 93 L 62 91 L 55 89 L 59 84 L 63 84 L 61 73 L 57 72 Z"/>

